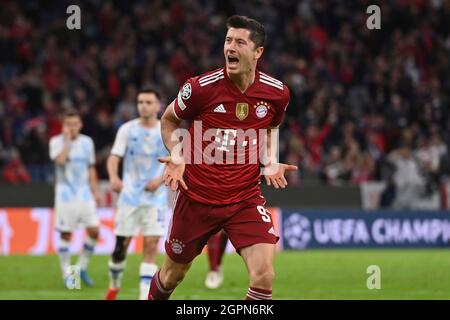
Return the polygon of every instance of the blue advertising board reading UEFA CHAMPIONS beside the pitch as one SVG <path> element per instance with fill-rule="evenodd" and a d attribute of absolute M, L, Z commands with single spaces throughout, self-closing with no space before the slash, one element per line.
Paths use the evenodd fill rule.
<path fill-rule="evenodd" d="M 285 250 L 450 247 L 449 211 L 283 210 Z"/>

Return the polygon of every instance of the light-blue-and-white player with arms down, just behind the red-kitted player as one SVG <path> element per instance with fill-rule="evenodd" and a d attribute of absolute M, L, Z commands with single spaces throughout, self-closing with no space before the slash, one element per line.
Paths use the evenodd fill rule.
<path fill-rule="evenodd" d="M 157 271 L 156 254 L 164 233 L 167 188 L 163 185 L 164 165 L 158 158 L 167 155 L 157 118 L 161 108 L 159 93 L 141 90 L 137 96 L 139 118 L 124 123 L 117 132 L 107 167 L 111 188 L 120 192 L 116 216 L 116 245 L 109 260 L 107 300 L 119 292 L 125 258 L 132 237 L 144 236 L 144 260 L 140 266 L 141 300 L 146 300 L 150 281 Z M 123 182 L 119 163 L 123 159 Z"/>

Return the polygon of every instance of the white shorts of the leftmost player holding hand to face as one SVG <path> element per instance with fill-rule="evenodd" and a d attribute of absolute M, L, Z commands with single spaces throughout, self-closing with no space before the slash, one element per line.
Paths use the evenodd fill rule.
<path fill-rule="evenodd" d="M 61 232 L 73 232 L 79 226 L 98 227 L 97 206 L 92 202 L 58 203 L 55 206 L 55 228 Z"/>

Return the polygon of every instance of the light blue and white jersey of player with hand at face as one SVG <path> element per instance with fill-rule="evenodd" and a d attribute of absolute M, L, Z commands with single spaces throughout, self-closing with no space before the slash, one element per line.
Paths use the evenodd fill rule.
<path fill-rule="evenodd" d="M 55 160 L 64 148 L 62 134 L 50 139 L 50 159 Z M 70 143 L 70 151 L 63 165 L 55 163 L 55 203 L 94 201 L 89 185 L 89 166 L 95 164 L 92 139 L 80 134 Z"/>

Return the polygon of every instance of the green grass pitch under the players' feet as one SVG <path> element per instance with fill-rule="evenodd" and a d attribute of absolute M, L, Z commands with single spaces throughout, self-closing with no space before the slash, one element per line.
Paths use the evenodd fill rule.
<path fill-rule="evenodd" d="M 163 256 L 158 259 L 161 262 Z M 68 290 L 56 256 L 0 256 L 0 299 L 103 299 L 107 260 L 107 256 L 91 260 L 94 287 Z M 140 261 L 139 255 L 128 257 L 119 299 L 137 298 Z M 381 269 L 379 290 L 367 289 L 369 265 Z M 275 268 L 274 299 L 450 299 L 450 251 L 445 249 L 284 251 L 277 254 Z M 244 297 L 247 272 L 237 254 L 224 258 L 225 281 L 220 289 L 204 287 L 206 271 L 202 254 L 172 299 Z"/>

